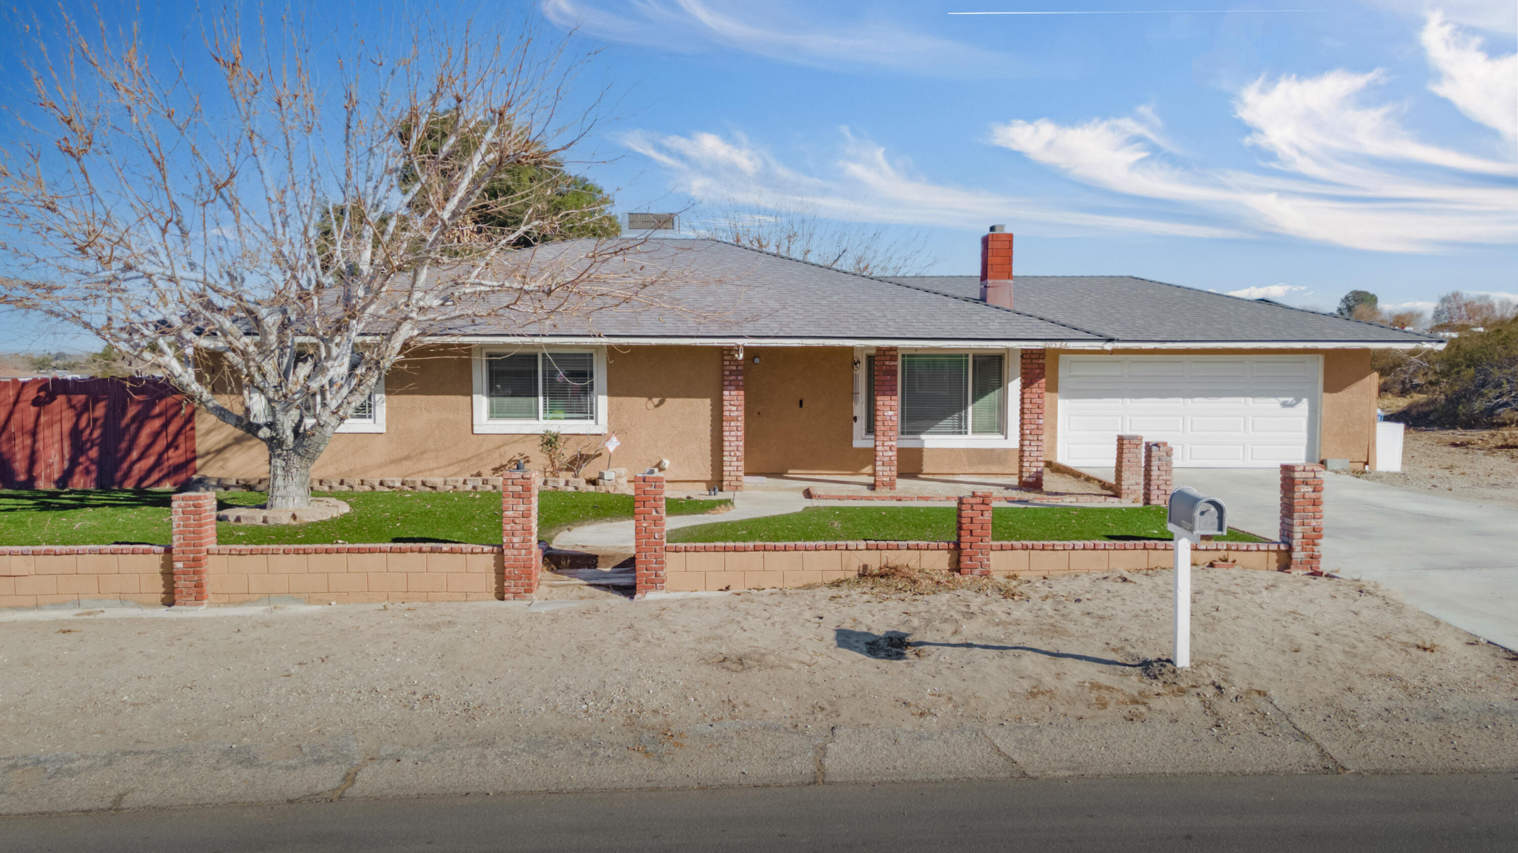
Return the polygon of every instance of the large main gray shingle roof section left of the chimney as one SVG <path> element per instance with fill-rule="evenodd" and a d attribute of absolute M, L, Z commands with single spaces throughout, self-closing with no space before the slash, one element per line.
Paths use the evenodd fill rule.
<path fill-rule="evenodd" d="M 534 263 L 577 257 L 578 241 L 537 249 Z M 616 338 L 833 338 L 1101 342 L 1099 335 L 911 284 L 846 273 L 716 240 L 650 240 L 607 267 L 609 275 L 668 273 L 648 291 L 665 307 L 607 308 L 553 325 L 502 328 L 498 320 L 434 332 L 586 335 Z"/>

